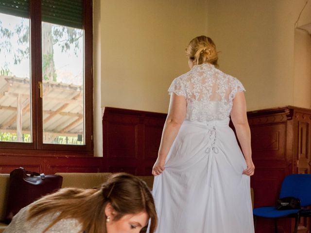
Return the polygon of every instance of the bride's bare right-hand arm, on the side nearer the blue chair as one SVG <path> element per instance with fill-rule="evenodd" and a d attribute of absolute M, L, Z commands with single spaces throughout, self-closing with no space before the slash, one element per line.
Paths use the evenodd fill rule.
<path fill-rule="evenodd" d="M 230 116 L 247 165 L 243 174 L 252 176 L 254 174 L 255 166 L 252 161 L 251 132 L 247 121 L 246 101 L 243 92 L 236 93 L 235 98 L 233 99 Z"/>

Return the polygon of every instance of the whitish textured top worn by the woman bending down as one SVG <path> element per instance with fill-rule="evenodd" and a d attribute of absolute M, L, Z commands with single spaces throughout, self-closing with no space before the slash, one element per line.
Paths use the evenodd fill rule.
<path fill-rule="evenodd" d="M 34 204 L 34 203 L 33 203 Z M 31 204 L 32 205 L 32 204 Z M 59 212 L 39 216 L 27 221 L 29 205 L 22 208 L 12 219 L 12 222 L 3 233 L 42 233 L 52 221 L 60 214 Z M 75 218 L 61 219 L 56 222 L 46 233 L 82 233 L 82 225 Z"/>

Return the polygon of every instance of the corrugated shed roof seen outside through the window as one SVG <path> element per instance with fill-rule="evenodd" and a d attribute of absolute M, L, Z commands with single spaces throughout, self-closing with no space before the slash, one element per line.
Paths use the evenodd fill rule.
<path fill-rule="evenodd" d="M 0 132 L 17 133 L 21 116 L 22 134 L 30 133 L 30 96 L 28 78 L 0 75 Z M 82 85 L 43 82 L 43 130 L 48 141 L 57 135 L 83 135 L 83 99 Z"/>

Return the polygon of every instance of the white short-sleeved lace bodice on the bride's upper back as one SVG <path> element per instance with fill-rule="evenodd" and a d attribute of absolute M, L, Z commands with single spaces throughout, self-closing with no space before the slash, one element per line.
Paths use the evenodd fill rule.
<path fill-rule="evenodd" d="M 229 117 L 235 94 L 245 89 L 238 79 L 204 63 L 174 79 L 168 91 L 186 98 L 187 120 L 209 121 Z"/>

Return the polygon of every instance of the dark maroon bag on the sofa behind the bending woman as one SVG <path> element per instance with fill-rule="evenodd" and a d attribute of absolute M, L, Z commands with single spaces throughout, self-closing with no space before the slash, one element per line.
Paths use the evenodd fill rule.
<path fill-rule="evenodd" d="M 9 224 L 21 208 L 61 188 L 62 183 L 63 177 L 59 175 L 39 174 L 26 171 L 23 167 L 11 171 L 5 223 Z"/>

